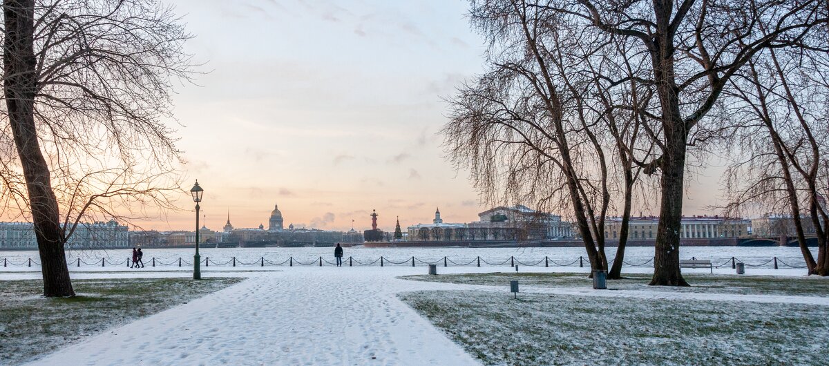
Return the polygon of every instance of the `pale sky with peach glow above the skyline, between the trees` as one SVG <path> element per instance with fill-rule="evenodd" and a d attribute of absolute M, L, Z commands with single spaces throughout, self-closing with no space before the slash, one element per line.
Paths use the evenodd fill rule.
<path fill-rule="evenodd" d="M 198 179 L 206 226 L 266 227 L 279 204 L 285 226 L 381 229 L 469 222 L 486 209 L 444 160 L 442 97 L 482 70 L 482 39 L 451 0 L 175 0 L 206 62 L 177 88 L 178 144 Z M 710 179 L 701 176 L 702 181 Z M 715 180 L 714 180 L 715 181 Z M 704 188 L 691 185 L 690 192 Z M 708 192 L 711 190 L 708 189 Z M 686 214 L 708 200 L 687 200 Z M 191 208 L 182 195 L 179 205 Z M 657 209 L 654 209 L 654 213 Z M 170 213 L 145 229 L 192 229 Z"/>

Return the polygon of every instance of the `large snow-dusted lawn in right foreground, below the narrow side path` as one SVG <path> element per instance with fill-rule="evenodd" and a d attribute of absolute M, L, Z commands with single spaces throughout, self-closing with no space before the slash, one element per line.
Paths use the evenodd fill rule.
<path fill-rule="evenodd" d="M 829 307 L 506 291 L 400 298 L 484 364 L 822 364 Z"/>

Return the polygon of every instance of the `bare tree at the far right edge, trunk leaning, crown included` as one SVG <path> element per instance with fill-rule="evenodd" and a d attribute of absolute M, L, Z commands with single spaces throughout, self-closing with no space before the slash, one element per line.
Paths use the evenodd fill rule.
<path fill-rule="evenodd" d="M 829 46 L 821 38 L 804 45 L 809 42 L 815 46 L 765 51 L 731 81 L 731 93 L 743 103 L 726 113 L 743 123 L 730 140 L 738 161 L 727 176 L 727 209 L 788 211 L 790 217 L 780 219 L 791 219 L 808 273 L 827 276 L 829 219 L 822 202 L 829 193 Z M 817 261 L 807 247 L 807 228 L 817 236 Z"/>

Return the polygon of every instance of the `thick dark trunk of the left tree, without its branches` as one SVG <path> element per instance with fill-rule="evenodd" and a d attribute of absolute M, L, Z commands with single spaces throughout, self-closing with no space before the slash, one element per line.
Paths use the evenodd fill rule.
<path fill-rule="evenodd" d="M 41 254 L 44 296 L 75 296 L 66 267 L 64 237 L 49 166 L 41 152 L 34 118 L 36 59 L 33 51 L 34 0 L 4 0 L 4 94 L 9 123 L 29 193 Z"/>

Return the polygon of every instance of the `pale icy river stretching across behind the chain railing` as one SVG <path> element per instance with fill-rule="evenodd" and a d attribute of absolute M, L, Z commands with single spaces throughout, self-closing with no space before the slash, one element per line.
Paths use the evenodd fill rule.
<path fill-rule="evenodd" d="M 182 265 L 192 263 L 194 249 L 168 248 L 144 251 L 143 262 L 150 267 L 155 259 L 158 267 L 177 266 L 179 258 Z M 608 258 L 613 259 L 616 248 L 607 248 Z M 817 248 L 812 248 L 817 254 Z M 201 248 L 201 260 L 210 262 L 208 266 L 231 266 L 235 258 L 236 266 L 288 266 L 318 265 L 322 258 L 323 265 L 334 262 L 333 248 Z M 132 256 L 132 249 L 108 250 L 70 250 L 66 257 L 70 265 L 76 265 L 79 258 L 84 266 L 100 263 L 105 258 L 106 265 L 124 265 Z M 509 266 L 512 258 L 515 264 L 524 266 L 579 267 L 579 257 L 584 257 L 584 266 L 589 266 L 584 248 L 345 248 L 344 265 L 352 264 L 380 266 L 411 266 L 412 257 L 415 265 L 438 263 L 443 266 L 444 257 L 449 266 L 477 266 L 478 257 L 482 266 Z M 773 267 L 773 258 L 778 259 L 780 268 L 803 267 L 799 248 L 790 247 L 686 247 L 681 248 L 682 259 L 709 259 L 714 265 L 724 264 L 732 257 L 744 262 L 749 267 Z M 0 251 L 0 271 L 2 265 L 22 265 L 32 258 L 36 265 L 40 262 L 36 251 Z M 632 247 L 625 250 L 624 262 L 630 266 L 651 266 L 652 247 Z M 5 262 L 4 262 L 5 261 Z M 99 265 L 99 264 L 98 264 Z"/>

